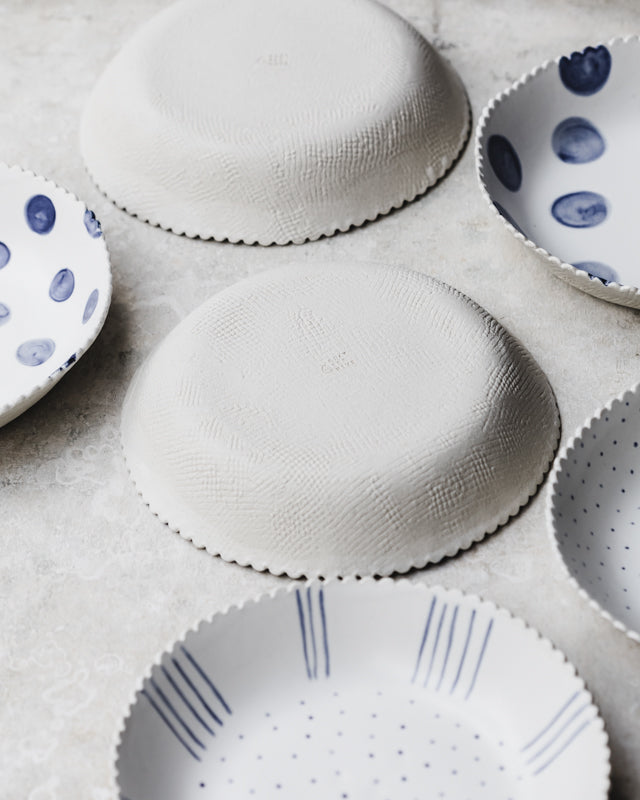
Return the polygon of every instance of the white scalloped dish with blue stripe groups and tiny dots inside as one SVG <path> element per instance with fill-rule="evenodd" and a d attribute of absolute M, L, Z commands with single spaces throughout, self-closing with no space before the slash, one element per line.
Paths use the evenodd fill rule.
<path fill-rule="evenodd" d="M 141 682 L 122 800 L 605 800 L 602 719 L 574 668 L 477 597 L 292 585 L 201 622 Z"/>

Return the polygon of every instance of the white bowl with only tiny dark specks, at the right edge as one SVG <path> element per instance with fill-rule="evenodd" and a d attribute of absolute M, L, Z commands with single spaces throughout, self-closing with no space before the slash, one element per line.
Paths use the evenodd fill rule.
<path fill-rule="evenodd" d="M 640 642 L 640 384 L 558 454 L 547 518 L 571 582 Z"/>

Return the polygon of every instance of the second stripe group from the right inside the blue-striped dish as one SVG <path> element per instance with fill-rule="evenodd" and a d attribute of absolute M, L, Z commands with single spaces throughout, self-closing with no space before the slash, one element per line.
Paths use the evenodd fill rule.
<path fill-rule="evenodd" d="M 437 619 L 437 623 L 436 623 Z M 433 596 L 420 638 L 411 682 L 424 672 L 422 685 L 436 692 L 448 688 L 465 700 L 471 696 L 489 645 L 493 618 L 480 629 L 477 611 L 466 611 L 459 604 L 439 601 Z M 436 664 L 439 668 L 436 669 Z"/>

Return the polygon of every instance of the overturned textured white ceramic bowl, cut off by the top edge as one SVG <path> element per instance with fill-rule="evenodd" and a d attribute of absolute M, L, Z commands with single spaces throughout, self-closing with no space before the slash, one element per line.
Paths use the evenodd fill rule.
<path fill-rule="evenodd" d="M 148 222 L 284 244 L 412 200 L 468 130 L 457 75 L 374 0 L 186 0 L 108 66 L 81 148 L 108 197 Z"/>

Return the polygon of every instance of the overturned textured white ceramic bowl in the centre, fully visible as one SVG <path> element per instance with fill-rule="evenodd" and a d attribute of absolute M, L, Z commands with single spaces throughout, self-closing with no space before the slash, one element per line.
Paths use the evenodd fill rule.
<path fill-rule="evenodd" d="M 291 576 L 389 574 L 532 495 L 558 412 L 489 314 L 421 273 L 294 264 L 215 295 L 127 393 L 131 475 L 199 547 Z"/>

